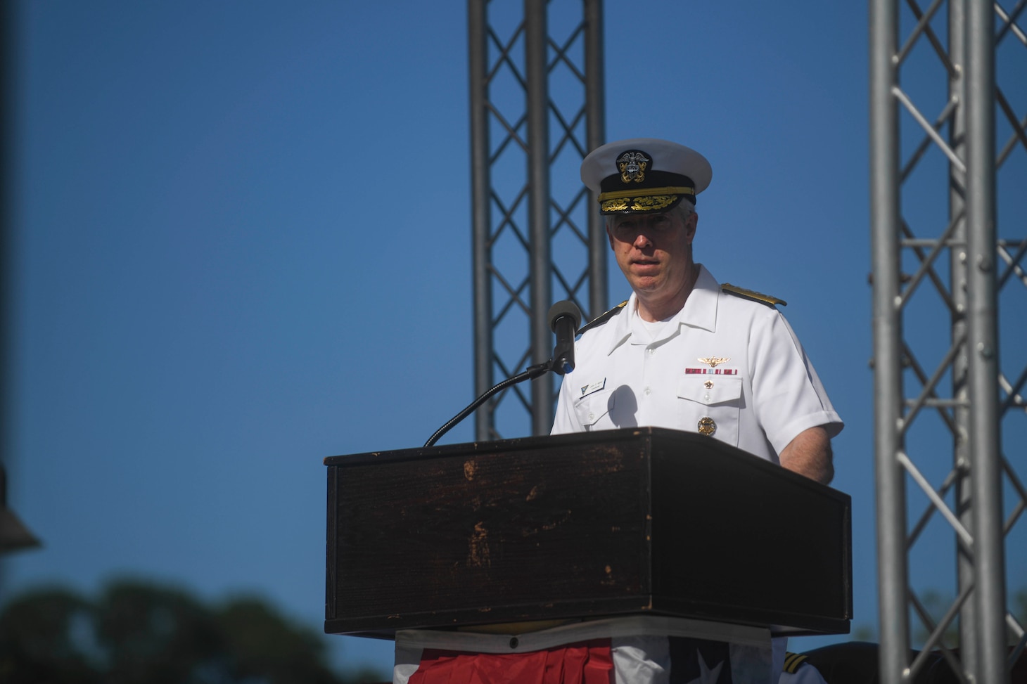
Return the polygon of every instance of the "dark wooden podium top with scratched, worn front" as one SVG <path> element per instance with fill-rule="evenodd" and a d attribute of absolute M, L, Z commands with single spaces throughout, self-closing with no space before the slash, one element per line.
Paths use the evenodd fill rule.
<path fill-rule="evenodd" d="M 846 494 L 691 432 L 327 458 L 325 631 L 656 614 L 844 634 Z"/>

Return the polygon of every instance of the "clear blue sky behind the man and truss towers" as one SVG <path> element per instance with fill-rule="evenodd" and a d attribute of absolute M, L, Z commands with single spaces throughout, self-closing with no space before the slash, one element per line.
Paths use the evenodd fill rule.
<path fill-rule="evenodd" d="M 321 459 L 419 446 L 472 398 L 466 5 L 20 7 L 6 453 L 45 545 L 5 559 L 4 593 L 145 575 L 319 629 Z M 866 15 L 607 2 L 606 137 L 701 151 L 696 259 L 789 302 L 847 423 L 834 486 L 874 625 Z M 944 588 L 946 563 L 913 571 Z"/>

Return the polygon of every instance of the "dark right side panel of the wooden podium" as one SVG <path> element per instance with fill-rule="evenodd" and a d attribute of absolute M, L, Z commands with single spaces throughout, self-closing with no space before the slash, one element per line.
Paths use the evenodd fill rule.
<path fill-rule="evenodd" d="M 659 608 L 697 618 L 744 615 L 778 635 L 847 633 L 848 495 L 709 442 L 690 445 L 682 458 L 680 445 L 654 440 Z"/>

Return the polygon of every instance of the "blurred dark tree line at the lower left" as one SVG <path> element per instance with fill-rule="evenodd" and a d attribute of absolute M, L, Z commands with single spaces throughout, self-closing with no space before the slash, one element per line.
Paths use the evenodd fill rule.
<path fill-rule="evenodd" d="M 326 637 L 258 598 L 205 604 L 120 580 L 89 600 L 35 590 L 0 612 L 4 684 L 357 684 L 390 679 L 334 672 Z"/>

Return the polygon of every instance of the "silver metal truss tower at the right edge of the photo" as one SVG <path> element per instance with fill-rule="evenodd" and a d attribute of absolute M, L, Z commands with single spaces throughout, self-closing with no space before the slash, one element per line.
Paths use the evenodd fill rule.
<path fill-rule="evenodd" d="M 967 682 L 1009 681 L 1024 646 L 1005 564 L 1024 548 L 1027 344 L 999 336 L 999 313 L 1027 313 L 1025 4 L 870 2 L 882 682 L 921 669 L 911 624 Z M 934 615 L 911 579 L 933 527 L 955 539 L 953 598 Z"/>

